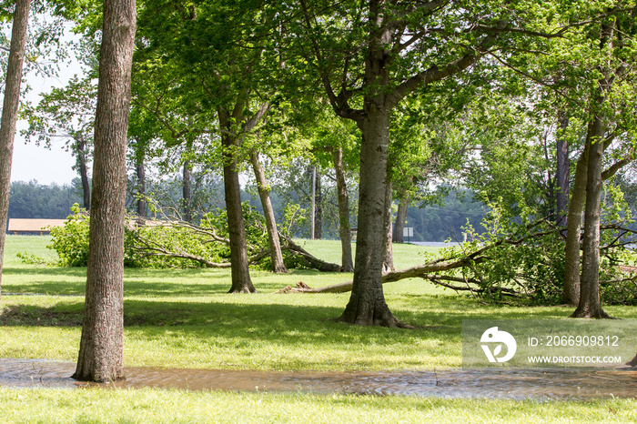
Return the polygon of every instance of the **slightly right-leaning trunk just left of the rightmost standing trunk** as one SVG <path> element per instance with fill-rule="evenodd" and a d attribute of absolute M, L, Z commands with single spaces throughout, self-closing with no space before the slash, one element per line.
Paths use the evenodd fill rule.
<path fill-rule="evenodd" d="M 564 287 L 562 300 L 565 304 L 577 306 L 580 303 L 580 237 L 581 214 L 586 202 L 586 179 L 589 160 L 589 146 L 584 146 L 575 167 L 575 181 L 569 202 L 566 220 L 566 246 L 564 258 Z"/>

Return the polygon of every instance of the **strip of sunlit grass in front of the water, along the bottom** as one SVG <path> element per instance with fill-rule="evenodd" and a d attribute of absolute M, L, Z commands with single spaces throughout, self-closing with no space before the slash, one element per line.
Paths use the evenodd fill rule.
<path fill-rule="evenodd" d="M 0 389 L 5 422 L 634 422 L 630 399 L 536 402 L 183 390 Z"/>

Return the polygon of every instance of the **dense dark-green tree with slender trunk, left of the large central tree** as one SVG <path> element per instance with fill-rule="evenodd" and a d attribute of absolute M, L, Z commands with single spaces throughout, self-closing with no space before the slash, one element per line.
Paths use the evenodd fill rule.
<path fill-rule="evenodd" d="M 201 2 L 177 5 L 147 1 L 140 60 L 159 63 L 167 76 L 157 98 L 175 100 L 176 108 L 160 114 L 164 121 L 191 116 L 195 125 L 177 134 L 207 136 L 210 162 L 224 174 L 230 251 L 231 292 L 253 292 L 246 255 L 238 173 L 252 149 L 245 146 L 262 126 L 276 91 L 280 61 L 271 48 L 270 11 L 252 2 Z M 157 10 L 162 13 L 157 14 Z M 143 57 L 145 56 L 145 57 Z M 177 138 L 177 137 L 175 137 Z"/>

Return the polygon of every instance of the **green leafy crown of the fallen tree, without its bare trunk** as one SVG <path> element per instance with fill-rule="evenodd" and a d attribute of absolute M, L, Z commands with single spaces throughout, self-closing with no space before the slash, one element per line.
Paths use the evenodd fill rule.
<path fill-rule="evenodd" d="M 503 211 L 491 205 L 483 222 L 484 233 L 479 235 L 467 227 L 470 241 L 441 252 L 446 261 L 464 260 L 465 266 L 428 279 L 493 301 L 520 298 L 538 305 L 561 304 L 566 266 L 564 229 L 549 218 L 529 222 L 512 219 Z M 635 305 L 637 268 L 630 266 L 632 252 L 627 246 L 634 243 L 637 233 L 622 227 L 630 217 L 619 217 L 612 211 L 607 217 L 614 223 L 601 227 L 601 300 Z"/>

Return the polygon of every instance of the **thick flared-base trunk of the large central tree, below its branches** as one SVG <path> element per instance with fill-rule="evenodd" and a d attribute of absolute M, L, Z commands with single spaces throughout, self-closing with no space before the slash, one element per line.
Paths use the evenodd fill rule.
<path fill-rule="evenodd" d="M 407 327 L 389 310 L 382 288 L 383 251 L 379 247 L 385 239 L 390 112 L 370 100 L 366 112 L 359 121 L 362 141 L 354 280 L 349 303 L 337 320 L 361 326 Z"/>

